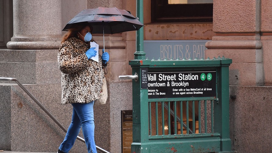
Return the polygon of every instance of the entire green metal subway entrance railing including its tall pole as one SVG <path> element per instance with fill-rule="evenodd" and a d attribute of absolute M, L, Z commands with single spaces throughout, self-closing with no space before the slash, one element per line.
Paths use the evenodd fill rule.
<path fill-rule="evenodd" d="M 137 0 L 136 3 L 137 17 L 143 23 L 143 0 Z M 127 78 L 136 78 L 132 81 L 133 142 L 131 153 L 232 152 L 229 125 L 229 66 L 232 60 L 224 57 L 206 60 L 148 60 L 143 50 L 143 35 L 144 31 L 141 28 L 136 34 L 134 60 L 129 61 L 132 74 L 135 75 L 126 76 Z M 147 79 L 144 78 L 149 72 L 167 74 L 177 71 L 200 72 L 201 70 L 212 70 L 213 77 L 216 77 L 216 80 L 213 79 L 212 81 L 216 82 L 213 85 L 213 90 L 216 90 L 216 93 L 213 93 L 212 96 L 207 94 L 208 96 L 198 97 L 186 93 L 186 96 L 176 94 L 172 97 L 156 97 L 155 92 L 149 93 Z M 153 75 L 153 77 L 155 78 L 156 75 Z M 174 78 L 174 75 L 169 75 L 167 79 L 172 80 Z M 150 79 L 150 81 L 154 80 Z M 157 82 L 155 84 L 157 86 Z M 191 82 L 191 84 L 193 83 Z M 159 90 L 164 90 L 164 88 L 168 89 L 170 85 L 163 82 L 159 83 L 158 86 L 163 86 Z M 187 91 L 187 89 L 185 90 Z M 153 91 L 156 91 L 156 89 L 153 88 Z M 156 95 L 160 94 L 156 93 Z M 186 103 L 184 106 L 186 107 L 186 119 L 184 121 L 183 103 Z M 210 106 L 207 105 L 208 103 L 210 103 Z M 190 104 L 192 107 L 189 107 Z M 195 108 L 195 104 L 197 104 L 197 108 Z M 189 124 L 190 108 L 192 109 L 192 121 L 190 122 L 193 122 L 191 127 Z M 196 114 L 198 117 L 195 116 Z M 198 133 L 195 132 L 195 121 L 199 123 Z M 177 124 L 182 125 L 180 126 L 180 133 L 178 133 Z M 183 128 L 186 130 L 184 134 L 181 130 Z M 165 129 L 167 130 L 165 131 Z"/>

